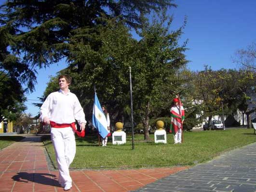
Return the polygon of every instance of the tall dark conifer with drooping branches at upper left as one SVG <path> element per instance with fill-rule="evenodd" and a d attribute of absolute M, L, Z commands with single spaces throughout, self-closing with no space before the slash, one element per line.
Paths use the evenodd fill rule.
<path fill-rule="evenodd" d="M 87 58 L 77 62 L 74 52 L 80 45 L 97 51 L 99 26 L 108 19 L 139 28 L 141 13 L 175 7 L 171 1 L 8 0 L 0 7 L 0 68 L 17 72 L 16 77 L 33 91 L 37 68 L 66 58 L 78 72 L 83 71 Z"/>

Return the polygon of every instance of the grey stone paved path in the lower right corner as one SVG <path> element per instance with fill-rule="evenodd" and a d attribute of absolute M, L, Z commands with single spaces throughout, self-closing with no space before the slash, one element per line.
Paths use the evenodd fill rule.
<path fill-rule="evenodd" d="M 256 143 L 171 174 L 134 192 L 256 192 Z"/>

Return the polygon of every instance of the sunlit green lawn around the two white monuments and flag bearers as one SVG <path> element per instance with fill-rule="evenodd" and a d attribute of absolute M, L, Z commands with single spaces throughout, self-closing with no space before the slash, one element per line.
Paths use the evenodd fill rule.
<path fill-rule="evenodd" d="M 96 135 L 77 138 L 77 153 L 71 168 L 155 168 L 172 166 L 192 166 L 208 161 L 221 153 L 256 142 L 252 129 L 238 128 L 225 131 L 185 132 L 183 144 L 173 144 L 173 135 L 167 134 L 167 144 L 155 144 L 154 135 L 145 143 L 144 135 L 135 135 L 135 150 L 132 150 L 132 137 L 126 135 L 127 143 L 98 146 Z M 44 141 L 50 158 L 56 167 L 51 141 Z"/>

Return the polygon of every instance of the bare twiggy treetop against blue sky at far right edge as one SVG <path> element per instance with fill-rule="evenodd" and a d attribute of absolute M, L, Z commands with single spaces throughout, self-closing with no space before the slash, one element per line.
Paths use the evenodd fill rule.
<path fill-rule="evenodd" d="M 247 69 L 256 70 L 256 42 L 253 42 L 246 49 L 237 50 L 233 62 Z"/>

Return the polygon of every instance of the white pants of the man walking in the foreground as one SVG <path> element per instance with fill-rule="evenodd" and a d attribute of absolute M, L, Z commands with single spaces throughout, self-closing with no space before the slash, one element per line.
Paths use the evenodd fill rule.
<path fill-rule="evenodd" d="M 59 183 L 65 186 L 72 183 L 69 166 L 76 154 L 75 134 L 71 127 L 51 128 L 51 138 L 54 145 L 56 161 L 59 169 Z"/>

